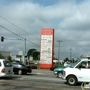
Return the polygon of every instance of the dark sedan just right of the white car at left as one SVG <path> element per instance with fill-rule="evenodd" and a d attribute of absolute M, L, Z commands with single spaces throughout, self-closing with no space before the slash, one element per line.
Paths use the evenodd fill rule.
<path fill-rule="evenodd" d="M 29 65 L 24 65 L 23 63 L 19 62 L 19 61 L 13 61 L 12 62 L 13 65 L 13 72 L 14 74 L 27 74 L 27 73 L 31 73 L 32 69 L 31 66 Z"/>

